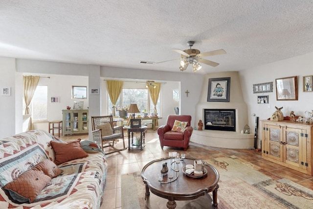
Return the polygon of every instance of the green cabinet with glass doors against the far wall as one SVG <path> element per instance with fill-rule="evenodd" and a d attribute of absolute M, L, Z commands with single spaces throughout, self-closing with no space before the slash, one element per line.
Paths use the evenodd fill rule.
<path fill-rule="evenodd" d="M 88 110 L 62 110 L 63 136 L 88 133 Z"/>

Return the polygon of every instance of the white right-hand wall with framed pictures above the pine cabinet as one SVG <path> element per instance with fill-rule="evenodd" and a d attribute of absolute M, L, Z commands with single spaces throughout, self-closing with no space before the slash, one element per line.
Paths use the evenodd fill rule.
<path fill-rule="evenodd" d="M 256 68 L 240 71 L 240 80 L 243 88 L 244 98 L 248 106 L 248 119 L 251 130 L 254 130 L 256 114 L 259 119 L 268 119 L 274 112 L 275 106 L 284 107 L 284 116 L 290 116 L 294 111 L 296 116 L 307 116 L 305 111 L 313 109 L 313 92 L 303 92 L 303 76 L 313 75 L 313 53 L 292 57 L 290 59 L 259 66 Z M 275 79 L 289 76 L 297 76 L 298 100 L 277 101 Z M 253 93 L 253 84 L 273 82 L 273 92 Z M 258 95 L 268 95 L 268 104 L 258 104 Z M 261 125 L 259 123 L 258 139 L 262 138 Z"/>

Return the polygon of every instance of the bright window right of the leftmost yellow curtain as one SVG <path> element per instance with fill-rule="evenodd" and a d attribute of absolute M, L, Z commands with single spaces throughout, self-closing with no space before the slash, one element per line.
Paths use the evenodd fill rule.
<path fill-rule="evenodd" d="M 30 111 L 33 120 L 48 119 L 48 87 L 37 86 L 33 99 L 30 103 Z M 25 108 L 24 112 L 25 113 Z"/>

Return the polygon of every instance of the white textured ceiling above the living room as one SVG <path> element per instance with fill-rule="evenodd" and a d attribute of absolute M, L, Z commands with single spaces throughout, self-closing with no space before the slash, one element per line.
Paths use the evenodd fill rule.
<path fill-rule="evenodd" d="M 313 52 L 312 0 L 1 0 L 0 56 L 179 72 L 172 48 L 201 52 L 200 73 Z M 192 72 L 188 67 L 186 72 Z"/>

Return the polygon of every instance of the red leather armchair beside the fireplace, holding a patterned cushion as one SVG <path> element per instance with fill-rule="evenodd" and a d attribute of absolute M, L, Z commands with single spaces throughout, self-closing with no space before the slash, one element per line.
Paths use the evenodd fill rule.
<path fill-rule="evenodd" d="M 175 120 L 187 122 L 187 126 L 183 132 L 171 131 Z M 169 115 L 166 125 L 162 125 L 157 129 L 161 148 L 163 149 L 163 146 L 182 147 L 186 151 L 193 131 L 190 122 L 191 116 Z"/>

